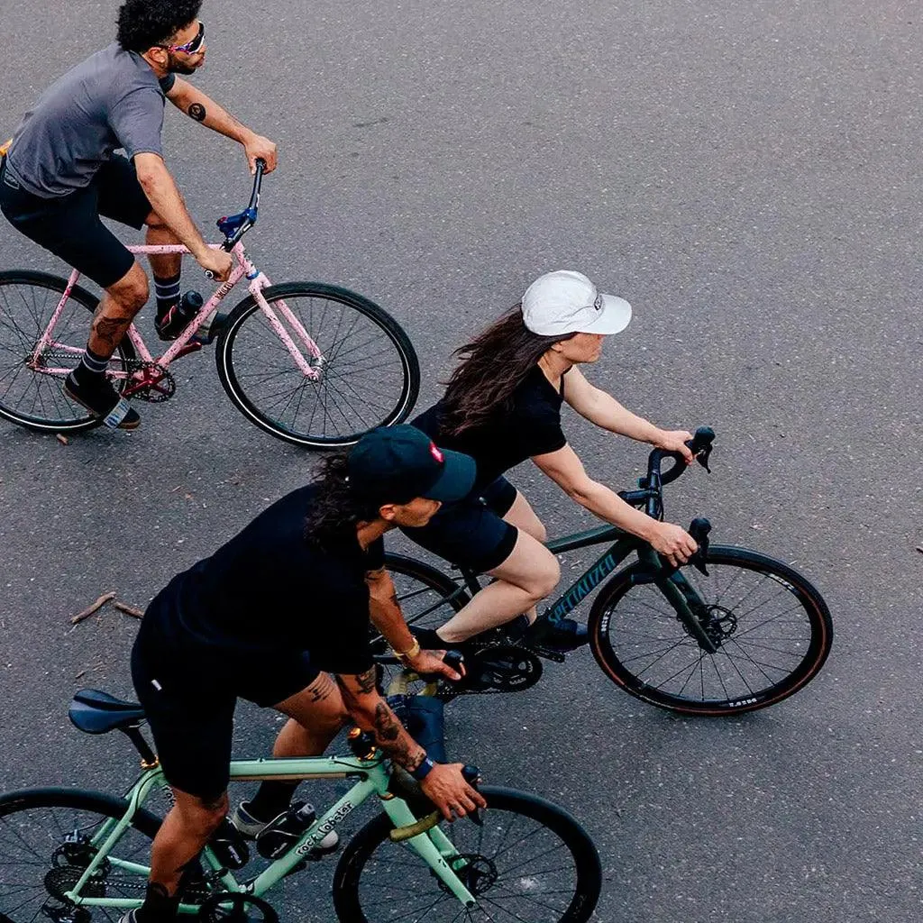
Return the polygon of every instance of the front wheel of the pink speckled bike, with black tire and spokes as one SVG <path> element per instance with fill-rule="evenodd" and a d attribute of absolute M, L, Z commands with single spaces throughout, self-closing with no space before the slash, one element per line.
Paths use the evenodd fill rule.
<path fill-rule="evenodd" d="M 347 289 L 315 282 L 273 285 L 263 295 L 270 306 L 284 302 L 317 343 L 321 377 L 312 381 L 295 365 L 250 295 L 231 312 L 215 354 L 222 386 L 248 420 L 295 445 L 336 449 L 407 418 L 420 365 L 394 318 Z"/>

